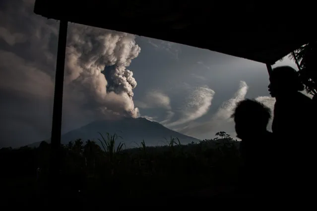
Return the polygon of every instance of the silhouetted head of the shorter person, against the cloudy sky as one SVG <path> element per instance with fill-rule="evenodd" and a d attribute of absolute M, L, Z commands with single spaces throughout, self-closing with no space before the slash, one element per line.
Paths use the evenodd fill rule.
<path fill-rule="evenodd" d="M 271 111 L 263 104 L 247 99 L 238 103 L 232 117 L 235 121 L 237 137 L 245 139 L 266 132 Z"/>

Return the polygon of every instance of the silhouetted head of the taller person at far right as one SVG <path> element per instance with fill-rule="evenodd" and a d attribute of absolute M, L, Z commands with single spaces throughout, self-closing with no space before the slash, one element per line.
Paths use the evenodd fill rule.
<path fill-rule="evenodd" d="M 285 96 L 303 90 L 304 85 L 295 69 L 290 66 L 280 66 L 273 69 L 268 85 L 268 91 L 272 97 Z"/>

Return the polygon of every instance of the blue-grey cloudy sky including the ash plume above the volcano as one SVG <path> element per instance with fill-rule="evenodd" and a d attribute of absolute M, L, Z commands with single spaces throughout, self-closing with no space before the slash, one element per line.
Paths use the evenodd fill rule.
<path fill-rule="evenodd" d="M 34 1 L 0 2 L 0 147 L 51 135 L 59 22 L 34 14 Z M 280 65 L 296 68 L 287 57 Z M 218 131 L 235 137 L 237 102 L 273 108 L 267 85 L 259 62 L 69 23 L 62 133 L 131 116 L 198 139 Z"/>

